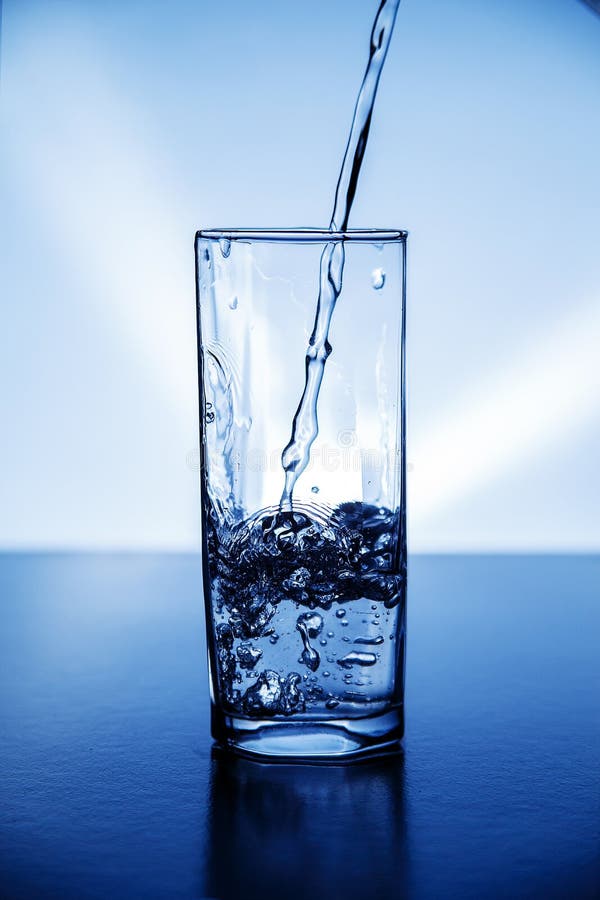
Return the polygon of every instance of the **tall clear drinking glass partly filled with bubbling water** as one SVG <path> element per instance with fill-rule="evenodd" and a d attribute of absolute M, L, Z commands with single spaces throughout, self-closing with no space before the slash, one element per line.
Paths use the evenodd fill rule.
<path fill-rule="evenodd" d="M 290 506 L 282 451 L 305 387 L 320 260 L 333 250 L 342 290 L 317 435 Z M 281 757 L 394 747 L 404 729 L 406 233 L 199 231 L 196 266 L 213 736 Z"/>

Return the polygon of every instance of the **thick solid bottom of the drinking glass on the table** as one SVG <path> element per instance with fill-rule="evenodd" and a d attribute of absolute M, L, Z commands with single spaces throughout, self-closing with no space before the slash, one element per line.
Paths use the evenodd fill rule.
<path fill-rule="evenodd" d="M 400 750 L 404 710 L 348 719 L 246 719 L 212 710 L 212 735 L 224 749 L 271 761 L 343 762 Z"/>

